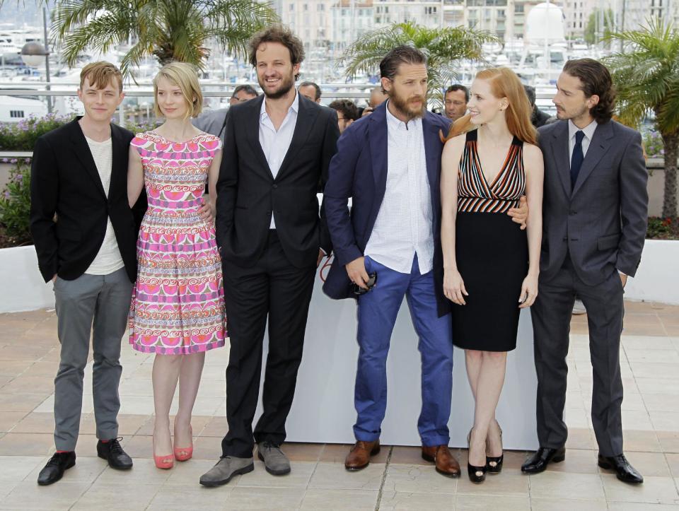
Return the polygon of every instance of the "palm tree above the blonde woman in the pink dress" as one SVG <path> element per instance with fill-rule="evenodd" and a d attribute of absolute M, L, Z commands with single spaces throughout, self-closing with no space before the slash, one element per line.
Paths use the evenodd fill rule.
<path fill-rule="evenodd" d="M 120 69 L 154 55 L 160 64 L 178 60 L 203 69 L 215 40 L 231 54 L 245 54 L 253 33 L 277 20 L 269 4 L 257 0 L 63 0 L 52 22 L 67 64 L 87 48 L 103 52 L 132 40 Z"/>

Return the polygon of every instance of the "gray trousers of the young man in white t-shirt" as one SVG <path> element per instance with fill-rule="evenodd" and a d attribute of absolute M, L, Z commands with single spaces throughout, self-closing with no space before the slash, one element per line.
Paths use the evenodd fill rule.
<path fill-rule="evenodd" d="M 54 282 L 57 330 L 62 345 L 54 379 L 54 445 L 76 448 L 83 408 L 83 377 L 92 333 L 92 393 L 97 437 L 118 435 L 120 340 L 127 328 L 132 283 L 124 268 L 108 275 L 79 276 Z"/>

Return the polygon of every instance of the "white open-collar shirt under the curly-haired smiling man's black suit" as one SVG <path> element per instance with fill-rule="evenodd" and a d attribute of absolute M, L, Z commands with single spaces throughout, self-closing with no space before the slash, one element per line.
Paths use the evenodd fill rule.
<path fill-rule="evenodd" d="M 262 109 L 260 110 L 260 146 L 262 146 L 262 151 L 267 158 L 267 163 L 269 164 L 269 169 L 274 175 L 274 180 L 278 175 L 278 171 L 281 168 L 283 159 L 285 158 L 290 143 L 292 141 L 292 135 L 295 132 L 295 126 L 297 125 L 297 112 L 299 110 L 299 95 L 295 91 L 295 100 L 290 105 L 288 113 L 283 119 L 283 124 L 279 127 L 278 131 L 274 128 L 274 123 L 269 118 L 267 114 L 267 98 L 262 101 Z M 274 219 L 274 214 L 271 215 L 270 229 L 276 228 L 276 222 Z"/>

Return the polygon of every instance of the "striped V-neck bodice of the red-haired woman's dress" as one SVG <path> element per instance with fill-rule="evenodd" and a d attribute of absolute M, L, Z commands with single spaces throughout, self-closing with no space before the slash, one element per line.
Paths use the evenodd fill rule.
<path fill-rule="evenodd" d="M 523 142 L 514 137 L 502 168 L 489 183 L 483 175 L 476 141 L 477 130 L 468 131 L 458 170 L 458 211 L 505 213 L 518 205 L 526 188 Z"/>

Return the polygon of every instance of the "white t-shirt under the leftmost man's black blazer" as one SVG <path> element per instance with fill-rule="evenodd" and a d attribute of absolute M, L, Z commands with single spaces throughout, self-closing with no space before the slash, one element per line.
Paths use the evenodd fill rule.
<path fill-rule="evenodd" d="M 97 142 L 87 137 L 85 139 L 87 145 L 90 146 L 90 152 L 92 153 L 95 165 L 97 165 L 101 184 L 108 197 L 108 188 L 111 183 L 111 168 L 113 165 L 113 145 L 111 139 L 103 142 Z M 118 242 L 115 240 L 115 232 L 113 231 L 111 219 L 107 218 L 104 240 L 101 242 L 97 256 L 85 273 L 90 275 L 108 275 L 121 269 L 124 265 L 120 249 L 118 249 Z"/>

